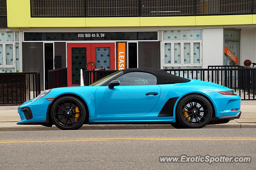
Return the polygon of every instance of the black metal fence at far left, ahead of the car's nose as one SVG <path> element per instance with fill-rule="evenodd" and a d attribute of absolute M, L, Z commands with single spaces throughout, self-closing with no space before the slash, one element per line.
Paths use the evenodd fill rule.
<path fill-rule="evenodd" d="M 40 73 L 0 73 L 0 105 L 21 104 L 40 94 Z"/>

